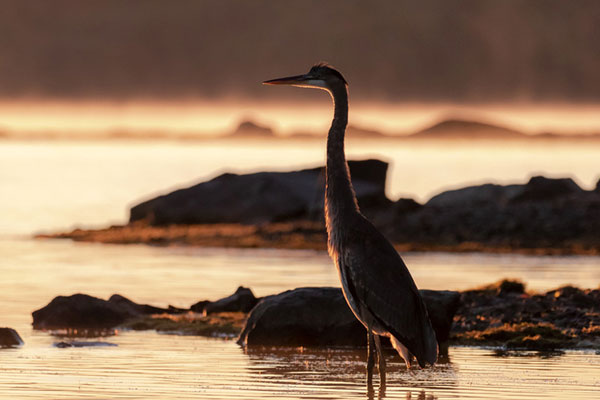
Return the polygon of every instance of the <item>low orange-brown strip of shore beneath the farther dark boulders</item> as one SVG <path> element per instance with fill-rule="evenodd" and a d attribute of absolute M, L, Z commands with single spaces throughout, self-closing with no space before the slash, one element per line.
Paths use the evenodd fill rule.
<path fill-rule="evenodd" d="M 70 239 L 104 244 L 145 244 L 151 246 L 191 246 L 222 248 L 273 248 L 289 250 L 327 250 L 327 234 L 322 223 L 311 221 L 244 224 L 198 224 L 151 226 L 144 223 L 115 225 L 100 229 L 75 229 L 70 232 L 38 234 L 37 239 Z M 600 255 L 597 248 L 574 244 L 561 247 L 521 247 L 463 242 L 456 245 L 421 242 L 395 242 L 400 252 L 492 253 L 524 255 Z"/>

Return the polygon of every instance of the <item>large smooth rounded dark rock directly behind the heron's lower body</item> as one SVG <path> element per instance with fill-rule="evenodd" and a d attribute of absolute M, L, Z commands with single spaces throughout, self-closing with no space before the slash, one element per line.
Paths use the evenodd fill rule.
<path fill-rule="evenodd" d="M 449 336 L 459 294 L 421 291 L 432 325 Z M 238 343 L 243 346 L 365 346 L 366 330 L 350 311 L 341 289 L 308 287 L 268 296 L 252 310 Z"/>

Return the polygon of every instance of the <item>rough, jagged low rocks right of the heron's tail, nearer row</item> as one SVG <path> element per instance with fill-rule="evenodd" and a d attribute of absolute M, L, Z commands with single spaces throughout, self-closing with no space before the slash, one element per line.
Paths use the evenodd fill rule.
<path fill-rule="evenodd" d="M 600 349 L 600 289 L 563 286 L 528 293 L 502 281 L 461 293 L 453 339 L 461 344 L 517 349 Z"/>

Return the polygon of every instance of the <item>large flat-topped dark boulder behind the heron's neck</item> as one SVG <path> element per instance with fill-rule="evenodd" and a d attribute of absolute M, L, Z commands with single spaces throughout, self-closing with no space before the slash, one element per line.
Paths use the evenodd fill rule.
<path fill-rule="evenodd" d="M 365 160 L 348 164 L 361 206 L 390 202 L 385 196 L 387 163 Z M 323 170 L 223 174 L 134 206 L 129 222 L 259 224 L 315 216 L 323 209 Z"/>

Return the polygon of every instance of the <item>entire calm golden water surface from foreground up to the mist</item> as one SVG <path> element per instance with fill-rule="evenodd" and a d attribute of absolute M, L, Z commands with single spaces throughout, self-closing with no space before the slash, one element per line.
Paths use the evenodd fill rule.
<path fill-rule="evenodd" d="M 419 198 L 444 185 L 489 177 L 524 181 L 536 168 L 575 176 L 589 187 L 600 172 L 592 168 L 597 165 L 596 158 L 592 163 L 594 149 L 571 149 L 578 152 L 575 161 L 564 149 L 552 147 L 527 153 L 498 150 L 487 157 L 479 153 L 483 150 L 453 147 L 442 152 L 426 146 L 381 150 L 365 145 L 356 154 L 387 155 L 393 162 L 390 195 Z M 432 160 L 436 154 L 441 158 Z M 26 344 L 0 350 L 0 398 L 368 398 L 363 351 L 244 352 L 231 340 L 153 332 L 120 332 L 102 339 L 117 345 L 112 347 L 59 349 L 54 343 L 60 338 L 33 331 L 30 325 L 33 310 L 57 295 L 76 292 L 103 298 L 120 293 L 137 302 L 188 307 L 228 295 L 240 284 L 258 296 L 298 286 L 337 286 L 335 270 L 321 252 L 113 246 L 29 238 L 40 230 L 123 222 L 127 206 L 136 199 L 223 170 L 259 170 L 264 165 L 285 170 L 291 164 L 322 162 L 322 157 L 322 150 L 312 145 L 1 143 L 0 326 L 17 329 Z M 505 165 L 506 157 L 514 164 Z M 223 159 L 230 167 L 221 167 Z M 449 166 L 442 168 L 443 163 Z M 503 277 L 523 279 L 532 290 L 600 284 L 597 257 L 444 253 L 404 257 L 423 288 L 464 289 Z M 540 356 L 453 347 L 449 360 L 434 369 L 407 372 L 391 353 L 388 363 L 387 391 L 375 392 L 375 398 L 600 399 L 600 355 L 594 352 Z"/>

